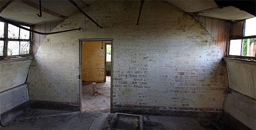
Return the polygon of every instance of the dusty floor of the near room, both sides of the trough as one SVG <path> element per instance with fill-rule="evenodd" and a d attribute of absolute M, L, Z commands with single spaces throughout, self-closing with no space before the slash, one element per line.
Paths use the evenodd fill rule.
<path fill-rule="evenodd" d="M 1 130 L 110 130 L 114 113 L 29 109 Z M 216 118 L 143 115 L 143 130 L 232 130 Z"/>

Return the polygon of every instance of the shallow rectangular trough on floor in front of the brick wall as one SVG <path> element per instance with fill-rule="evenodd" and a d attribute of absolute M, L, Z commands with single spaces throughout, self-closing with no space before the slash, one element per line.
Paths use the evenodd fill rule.
<path fill-rule="evenodd" d="M 110 124 L 111 130 L 142 130 L 142 115 L 115 113 Z"/>

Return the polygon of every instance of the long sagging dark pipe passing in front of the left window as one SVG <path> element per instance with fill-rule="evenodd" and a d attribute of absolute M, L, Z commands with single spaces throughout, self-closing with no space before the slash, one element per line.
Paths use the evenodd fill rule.
<path fill-rule="evenodd" d="M 31 29 L 27 29 L 26 27 L 22 27 L 22 26 L 18 25 L 17 23 L 13 22 L 13 21 L 4 19 L 1 16 L 0 16 L 0 21 L 6 22 L 6 23 L 10 23 L 10 24 L 12 24 L 12 25 L 14 25 L 16 27 L 20 27 L 21 29 L 24 29 L 24 30 L 27 30 L 27 31 L 30 31 L 30 32 L 33 32 L 33 33 L 41 34 L 41 35 L 64 33 L 64 32 L 68 32 L 68 31 L 74 31 L 74 30 L 80 30 L 81 29 L 81 27 L 78 27 L 77 29 L 70 29 L 70 30 L 65 30 L 65 31 L 56 31 L 56 32 L 51 32 L 51 33 L 41 33 L 41 32 L 38 32 L 38 31 L 31 30 Z"/>

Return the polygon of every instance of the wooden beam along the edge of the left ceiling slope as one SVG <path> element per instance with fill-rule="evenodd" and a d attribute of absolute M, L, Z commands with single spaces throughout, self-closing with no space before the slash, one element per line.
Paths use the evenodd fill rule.
<path fill-rule="evenodd" d="M 32 8 L 35 8 L 35 9 L 37 9 L 37 10 L 40 10 L 40 6 L 38 6 L 37 4 L 34 4 L 33 2 L 30 2 L 30 1 L 28 1 L 28 0 L 18 0 L 18 2 L 21 2 L 22 4 L 26 4 L 27 6 L 30 6 L 30 7 L 32 7 Z M 60 17 L 60 18 L 62 18 L 62 19 L 68 18 L 68 17 L 66 17 L 66 16 L 62 16 L 62 15 L 60 15 L 60 14 L 54 13 L 54 12 L 52 12 L 52 11 L 50 11 L 50 10 L 45 9 L 45 8 L 42 8 L 42 12 L 44 12 L 45 14 L 50 14 L 50 15 L 52 15 L 52 16 Z"/>

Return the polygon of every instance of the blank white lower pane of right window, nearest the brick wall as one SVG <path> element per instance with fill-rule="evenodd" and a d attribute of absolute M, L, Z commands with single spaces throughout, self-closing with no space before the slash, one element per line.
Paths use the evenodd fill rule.
<path fill-rule="evenodd" d="M 230 40 L 230 55 L 241 56 L 242 39 Z"/>

